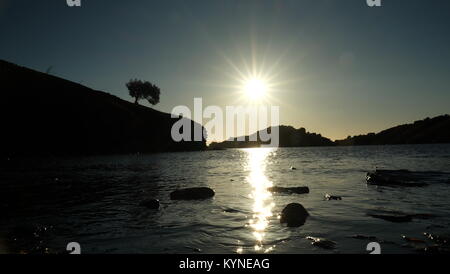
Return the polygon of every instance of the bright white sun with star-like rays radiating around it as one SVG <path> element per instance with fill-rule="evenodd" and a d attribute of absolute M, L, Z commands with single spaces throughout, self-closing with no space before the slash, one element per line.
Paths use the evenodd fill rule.
<path fill-rule="evenodd" d="M 288 104 L 280 100 L 280 94 L 289 91 L 294 83 L 302 80 L 297 75 L 293 79 L 288 78 L 292 75 L 293 64 L 297 65 L 302 56 L 287 60 L 288 50 L 281 51 L 279 56 L 273 56 L 270 54 L 270 45 L 258 46 L 256 40 L 251 40 L 250 48 L 237 47 L 235 52 L 228 54 L 224 50 L 217 50 L 225 63 L 214 69 L 225 77 L 219 83 L 208 85 L 231 90 L 232 92 L 228 93 L 229 98 L 232 98 L 227 101 L 229 105 Z M 297 84 L 295 89 L 298 89 Z"/>

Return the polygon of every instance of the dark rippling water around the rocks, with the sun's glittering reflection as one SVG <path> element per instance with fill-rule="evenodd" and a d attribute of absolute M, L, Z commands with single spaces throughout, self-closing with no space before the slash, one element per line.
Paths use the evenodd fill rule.
<path fill-rule="evenodd" d="M 297 170 L 290 170 L 294 166 Z M 375 167 L 436 171 L 427 187 L 365 183 Z M 450 227 L 450 145 L 243 149 L 2 160 L 0 252 L 62 253 L 367 253 L 377 237 L 382 253 L 414 253 L 423 232 Z M 434 173 L 433 173 L 434 174 Z M 309 194 L 271 194 L 267 187 L 308 186 Z M 177 188 L 208 186 L 213 199 L 171 201 Z M 325 201 L 324 194 L 342 196 Z M 161 201 L 159 211 L 139 205 Z M 309 211 L 288 228 L 278 214 L 291 202 Z M 392 223 L 370 213 L 432 214 Z M 336 248 L 311 245 L 324 237 Z"/>

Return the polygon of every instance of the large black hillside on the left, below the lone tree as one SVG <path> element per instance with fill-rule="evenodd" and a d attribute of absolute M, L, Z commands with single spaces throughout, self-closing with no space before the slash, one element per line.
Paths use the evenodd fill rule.
<path fill-rule="evenodd" d="M 204 149 L 172 140 L 170 114 L 0 60 L 0 155 Z"/>

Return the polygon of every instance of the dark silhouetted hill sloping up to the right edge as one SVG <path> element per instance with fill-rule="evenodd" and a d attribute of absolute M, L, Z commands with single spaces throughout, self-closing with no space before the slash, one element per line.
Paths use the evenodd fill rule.
<path fill-rule="evenodd" d="M 450 143 L 450 116 L 426 118 L 383 130 L 337 140 L 337 145 L 394 145 Z"/>

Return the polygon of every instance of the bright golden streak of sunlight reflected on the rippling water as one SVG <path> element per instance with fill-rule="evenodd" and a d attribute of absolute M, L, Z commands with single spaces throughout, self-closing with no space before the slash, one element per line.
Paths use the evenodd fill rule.
<path fill-rule="evenodd" d="M 253 216 L 249 221 L 253 236 L 256 240 L 255 251 L 269 252 L 273 247 L 266 250 L 263 246 L 266 228 L 272 217 L 272 209 L 275 203 L 272 199 L 272 193 L 267 188 L 273 186 L 272 182 L 266 177 L 265 171 L 268 156 L 274 151 L 273 148 L 252 148 L 246 149 L 247 168 L 249 175 L 248 183 L 252 187 L 249 197 L 253 199 Z"/>

